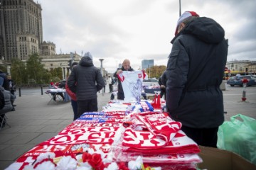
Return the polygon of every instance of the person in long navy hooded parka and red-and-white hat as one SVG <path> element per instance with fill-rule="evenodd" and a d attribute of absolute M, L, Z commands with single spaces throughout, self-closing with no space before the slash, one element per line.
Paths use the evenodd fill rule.
<path fill-rule="evenodd" d="M 178 19 L 166 75 L 171 118 L 198 145 L 216 147 L 224 121 L 220 84 L 228 55 L 225 31 L 211 18 L 186 11 Z"/>

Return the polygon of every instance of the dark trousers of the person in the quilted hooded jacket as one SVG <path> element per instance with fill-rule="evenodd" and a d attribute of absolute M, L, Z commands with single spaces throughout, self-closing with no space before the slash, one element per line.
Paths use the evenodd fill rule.
<path fill-rule="evenodd" d="M 97 111 L 97 98 L 93 98 L 85 101 L 78 101 L 78 118 L 85 112 Z"/>

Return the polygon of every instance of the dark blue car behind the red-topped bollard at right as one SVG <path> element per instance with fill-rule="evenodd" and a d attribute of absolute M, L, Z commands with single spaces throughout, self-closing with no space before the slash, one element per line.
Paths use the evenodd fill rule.
<path fill-rule="evenodd" d="M 230 86 L 243 86 L 242 79 L 247 79 L 247 86 L 255 86 L 256 85 L 256 77 L 248 76 L 233 76 L 228 79 L 227 84 Z"/>

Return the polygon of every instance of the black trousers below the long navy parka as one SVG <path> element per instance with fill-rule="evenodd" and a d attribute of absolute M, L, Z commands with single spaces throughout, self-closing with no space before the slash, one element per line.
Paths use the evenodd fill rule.
<path fill-rule="evenodd" d="M 217 128 L 196 129 L 182 126 L 181 130 L 186 133 L 198 145 L 206 147 L 217 147 Z"/>

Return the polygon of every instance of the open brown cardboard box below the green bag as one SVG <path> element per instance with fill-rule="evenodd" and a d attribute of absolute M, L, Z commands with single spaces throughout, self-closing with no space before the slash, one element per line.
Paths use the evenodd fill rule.
<path fill-rule="evenodd" d="M 256 170 L 256 165 L 247 161 L 238 154 L 223 149 L 200 146 L 199 156 L 203 163 L 198 164 L 199 169 L 208 170 Z"/>

